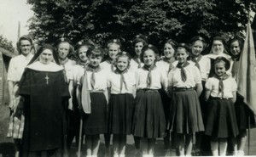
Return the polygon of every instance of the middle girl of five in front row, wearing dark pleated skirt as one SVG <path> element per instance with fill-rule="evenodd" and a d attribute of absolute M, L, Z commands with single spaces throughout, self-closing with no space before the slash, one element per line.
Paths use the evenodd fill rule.
<path fill-rule="evenodd" d="M 165 113 L 158 90 L 166 89 L 166 74 L 155 66 L 158 50 L 151 44 L 142 49 L 143 67 L 137 70 L 136 109 L 133 119 L 133 135 L 141 137 L 143 157 L 154 155 L 156 137 L 166 132 Z"/>

